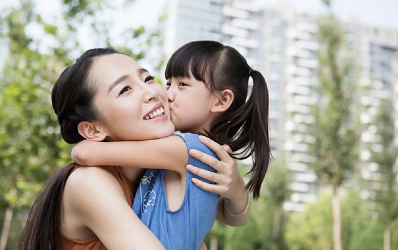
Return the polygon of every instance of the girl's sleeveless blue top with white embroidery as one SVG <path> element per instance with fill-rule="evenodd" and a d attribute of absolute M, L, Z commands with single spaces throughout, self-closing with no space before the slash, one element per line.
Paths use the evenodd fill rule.
<path fill-rule="evenodd" d="M 191 133 L 175 135 L 185 141 L 188 151 L 195 148 L 218 158 L 212 150 L 199 141 L 198 135 Z M 188 163 L 215 172 L 213 168 L 192 156 L 189 156 Z M 146 170 L 135 195 L 133 210 L 167 250 L 197 250 L 213 226 L 220 195 L 195 186 L 191 178 L 199 176 L 187 172 L 181 207 L 171 211 L 167 208 L 164 190 L 165 172 L 166 170 L 158 169 Z M 211 183 L 203 178 L 199 179 Z"/>

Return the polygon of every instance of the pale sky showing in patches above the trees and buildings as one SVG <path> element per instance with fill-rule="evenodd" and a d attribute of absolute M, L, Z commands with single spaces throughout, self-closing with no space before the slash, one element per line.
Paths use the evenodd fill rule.
<path fill-rule="evenodd" d="M 114 4 L 123 0 L 112 0 Z M 183 0 L 181 0 L 183 1 Z M 304 10 L 313 14 L 322 14 L 326 12 L 326 8 L 321 0 L 253 0 L 259 8 L 269 6 L 273 2 L 283 1 L 291 4 L 297 10 Z M 3 7 L 15 4 L 18 1 L 0 0 L 0 11 Z M 44 20 L 56 20 L 54 17 L 60 12 L 61 0 L 33 0 L 37 11 L 42 14 Z M 123 30 L 124 27 L 139 27 L 144 25 L 148 29 L 158 25 L 158 17 L 165 9 L 166 0 L 136 0 L 123 14 L 115 15 L 109 13 L 104 19 L 111 18 L 115 20 L 115 37 L 117 39 L 117 29 Z M 398 29 L 398 0 L 332 0 L 332 10 L 339 17 L 354 16 L 362 23 L 376 25 L 381 27 Z M 43 31 L 35 31 L 31 27 L 31 32 L 40 37 Z M 90 34 L 82 32 L 82 41 L 86 49 L 96 47 L 95 41 Z M 0 54 L 2 49 L 0 48 Z M 0 55 L 2 59 L 2 55 Z M 1 60 L 2 61 L 2 60 Z M 1 64 L 1 62 L 0 62 Z M 0 65 L 1 66 L 1 65 Z M 144 65 L 143 65 L 144 66 Z M 148 66 L 148 68 L 150 68 Z"/>

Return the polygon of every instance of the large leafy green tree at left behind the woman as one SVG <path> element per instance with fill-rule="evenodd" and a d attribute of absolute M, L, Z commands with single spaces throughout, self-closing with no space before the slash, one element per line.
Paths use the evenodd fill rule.
<path fill-rule="evenodd" d="M 61 139 L 51 105 L 51 88 L 60 72 L 84 51 L 77 35 L 84 21 L 96 34 L 98 46 L 111 45 L 107 32 L 111 23 L 98 21 L 96 14 L 113 3 L 63 0 L 63 18 L 57 19 L 57 25 L 43 20 L 30 0 L 0 14 L 0 45 L 8 51 L 0 75 L 0 211 L 5 210 L 0 250 L 6 248 L 14 212 L 29 208 L 43 182 L 70 162 L 70 146 Z M 32 37 L 29 25 L 40 27 L 45 37 Z M 142 59 L 157 34 L 144 27 L 130 28 L 114 47 Z M 50 46 L 46 39 L 55 42 Z"/>

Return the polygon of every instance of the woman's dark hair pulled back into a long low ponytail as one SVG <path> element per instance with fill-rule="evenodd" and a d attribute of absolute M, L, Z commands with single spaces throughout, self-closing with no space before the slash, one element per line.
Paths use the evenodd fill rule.
<path fill-rule="evenodd" d="M 51 95 L 53 108 L 61 126 L 62 138 L 67 143 L 78 143 L 84 138 L 78 133 L 81 121 L 100 118 L 93 105 L 96 87 L 90 83 L 88 73 L 95 57 L 119 53 L 113 48 L 90 49 L 68 66 L 60 75 Z M 57 250 L 60 245 L 62 195 L 66 180 L 76 164 L 55 172 L 47 181 L 29 211 L 18 249 Z"/>

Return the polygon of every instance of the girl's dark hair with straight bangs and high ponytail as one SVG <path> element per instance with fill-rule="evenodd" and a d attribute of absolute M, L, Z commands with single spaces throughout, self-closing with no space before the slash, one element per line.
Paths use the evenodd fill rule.
<path fill-rule="evenodd" d="M 229 145 L 236 152 L 236 159 L 246 159 L 254 154 L 253 167 L 248 172 L 252 176 L 246 188 L 257 199 L 271 155 L 268 88 L 263 75 L 250 68 L 236 49 L 216 41 L 193 41 L 183 45 L 168 61 L 165 73 L 166 79 L 192 75 L 205 82 L 211 92 L 232 90 L 231 106 L 205 133 L 218 143 Z M 246 100 L 250 76 L 253 89 Z"/>

